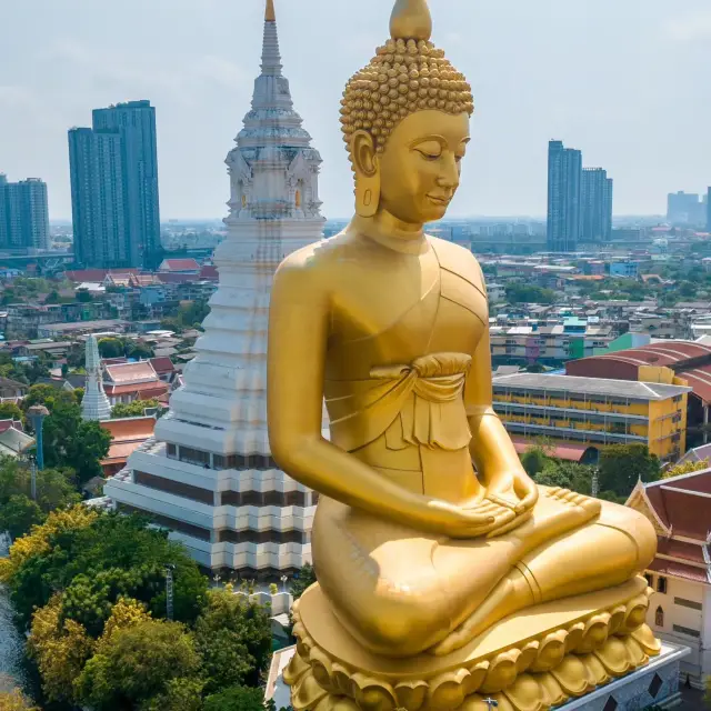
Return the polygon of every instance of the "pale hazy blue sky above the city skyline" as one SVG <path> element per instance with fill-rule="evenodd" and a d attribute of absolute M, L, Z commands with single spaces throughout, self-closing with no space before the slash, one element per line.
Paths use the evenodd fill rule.
<path fill-rule="evenodd" d="M 264 0 L 0 0 L 0 172 L 71 217 L 67 130 L 157 108 L 161 218 L 226 214 L 223 160 L 259 72 Z M 388 38 L 392 0 L 276 0 L 284 74 L 323 157 L 323 213 L 352 213 L 344 83 Z M 552 138 L 614 178 L 615 214 L 711 186 L 709 0 L 430 0 L 433 41 L 473 87 L 450 217 L 545 212 Z"/>

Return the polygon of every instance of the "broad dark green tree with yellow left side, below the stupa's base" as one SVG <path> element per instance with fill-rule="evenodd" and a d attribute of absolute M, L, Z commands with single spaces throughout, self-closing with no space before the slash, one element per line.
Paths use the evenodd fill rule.
<path fill-rule="evenodd" d="M 162 618 L 164 570 L 170 563 L 176 567 L 174 617 L 194 622 L 206 604 L 207 579 L 184 548 L 169 541 L 167 533 L 156 530 L 147 519 L 91 512 L 87 524 L 82 509 L 81 517 L 71 510 L 69 522 L 57 533 L 56 521 L 63 519 L 52 513 L 44 527 L 12 548 L 10 572 L 2 578 L 9 583 L 20 618 L 28 622 L 33 609 L 46 605 L 56 592 L 69 590 L 63 613 L 82 623 L 94 623 L 92 633 L 101 629 L 121 594 L 144 603 L 153 617 Z M 18 559 L 16 548 L 18 553 L 28 549 L 31 553 Z M 93 612 L 88 612 L 92 604 Z"/>

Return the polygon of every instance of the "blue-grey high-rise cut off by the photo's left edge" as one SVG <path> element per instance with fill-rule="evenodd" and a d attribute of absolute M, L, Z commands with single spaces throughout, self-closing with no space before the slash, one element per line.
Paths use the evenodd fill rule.
<path fill-rule="evenodd" d="M 49 249 L 47 183 L 39 178 L 8 182 L 0 174 L 0 249 Z"/>

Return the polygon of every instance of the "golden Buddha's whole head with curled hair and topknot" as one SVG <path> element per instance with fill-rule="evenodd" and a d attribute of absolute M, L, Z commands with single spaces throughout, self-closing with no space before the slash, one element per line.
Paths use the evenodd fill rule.
<path fill-rule="evenodd" d="M 474 110 L 464 76 L 430 37 L 427 0 L 398 0 L 391 38 L 348 82 L 341 123 L 356 173 L 356 211 L 408 224 L 444 217 Z"/>

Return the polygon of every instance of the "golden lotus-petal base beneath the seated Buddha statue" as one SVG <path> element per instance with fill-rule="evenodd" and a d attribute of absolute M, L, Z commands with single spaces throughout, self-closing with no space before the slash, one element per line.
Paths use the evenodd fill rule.
<path fill-rule="evenodd" d="M 296 711 L 547 711 L 659 655 L 644 624 L 643 578 L 512 614 L 447 657 L 364 650 L 318 584 L 294 605 L 297 653 L 284 672 Z"/>

